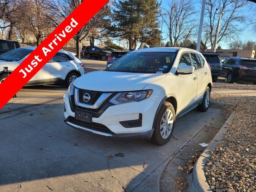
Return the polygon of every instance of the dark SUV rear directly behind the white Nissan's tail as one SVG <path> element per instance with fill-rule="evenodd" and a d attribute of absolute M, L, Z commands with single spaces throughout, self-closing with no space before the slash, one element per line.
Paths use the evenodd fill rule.
<path fill-rule="evenodd" d="M 222 72 L 222 63 L 220 61 L 219 55 L 212 52 L 201 52 L 201 53 L 211 67 L 212 82 L 216 82 L 218 80 L 218 76 L 220 76 Z"/>

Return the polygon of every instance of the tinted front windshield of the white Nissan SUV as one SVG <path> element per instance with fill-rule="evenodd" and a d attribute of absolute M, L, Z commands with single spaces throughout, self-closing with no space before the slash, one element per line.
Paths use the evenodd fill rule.
<path fill-rule="evenodd" d="M 172 68 L 174 52 L 131 52 L 112 64 L 106 71 L 133 73 L 167 73 Z"/>

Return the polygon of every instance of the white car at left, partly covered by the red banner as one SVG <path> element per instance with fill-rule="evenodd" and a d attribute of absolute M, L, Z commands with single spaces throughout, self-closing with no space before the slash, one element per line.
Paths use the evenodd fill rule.
<path fill-rule="evenodd" d="M 8 76 L 9 73 L 21 64 L 22 61 L 36 47 L 22 47 L 11 50 L 0 56 L 0 83 Z M 60 50 L 36 75 L 29 80 L 26 86 L 63 83 L 70 85 L 76 78 L 84 74 L 84 64 L 74 53 Z"/>

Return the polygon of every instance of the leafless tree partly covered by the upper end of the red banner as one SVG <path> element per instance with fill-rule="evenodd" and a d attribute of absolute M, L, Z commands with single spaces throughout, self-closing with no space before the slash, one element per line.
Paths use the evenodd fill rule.
<path fill-rule="evenodd" d="M 48 18 L 53 26 L 58 26 L 80 4 L 80 0 L 55 0 L 49 1 Z M 108 22 L 106 16 L 110 14 L 108 5 L 104 6 L 77 34 L 73 37 L 76 41 L 76 53 L 80 58 L 80 45 L 82 40 L 88 38 L 92 31 L 102 31 Z M 82 15 L 81 15 L 82 16 Z"/>

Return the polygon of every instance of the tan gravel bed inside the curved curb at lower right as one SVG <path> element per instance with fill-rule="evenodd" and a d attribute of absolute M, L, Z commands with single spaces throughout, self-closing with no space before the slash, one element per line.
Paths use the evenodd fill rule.
<path fill-rule="evenodd" d="M 206 163 L 214 192 L 256 192 L 256 96 L 212 96 L 238 105 L 222 142 Z"/>

